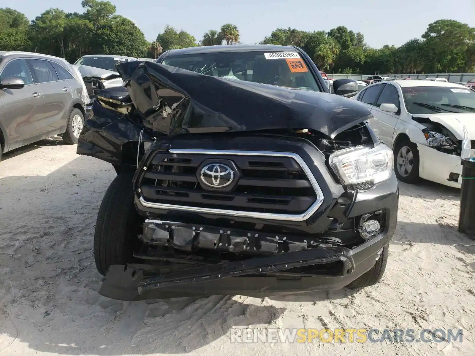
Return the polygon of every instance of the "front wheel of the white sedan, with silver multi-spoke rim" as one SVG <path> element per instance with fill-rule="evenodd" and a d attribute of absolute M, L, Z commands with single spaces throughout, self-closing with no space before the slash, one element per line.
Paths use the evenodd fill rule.
<path fill-rule="evenodd" d="M 415 184 L 419 178 L 419 151 L 409 140 L 400 141 L 394 147 L 394 171 L 404 183 Z"/>

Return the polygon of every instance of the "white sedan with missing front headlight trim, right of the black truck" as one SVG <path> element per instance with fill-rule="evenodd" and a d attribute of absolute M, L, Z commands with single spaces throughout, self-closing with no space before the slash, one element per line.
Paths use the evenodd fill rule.
<path fill-rule="evenodd" d="M 475 92 L 439 81 L 370 85 L 352 99 L 373 114 L 370 125 L 394 151 L 399 180 L 461 186 L 461 159 L 475 157 Z"/>

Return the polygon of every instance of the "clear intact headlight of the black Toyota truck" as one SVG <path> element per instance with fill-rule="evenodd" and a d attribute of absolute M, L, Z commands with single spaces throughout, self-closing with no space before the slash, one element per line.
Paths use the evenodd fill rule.
<path fill-rule="evenodd" d="M 394 154 L 383 144 L 376 147 L 352 147 L 330 155 L 330 166 L 344 185 L 373 182 L 390 178 Z"/>

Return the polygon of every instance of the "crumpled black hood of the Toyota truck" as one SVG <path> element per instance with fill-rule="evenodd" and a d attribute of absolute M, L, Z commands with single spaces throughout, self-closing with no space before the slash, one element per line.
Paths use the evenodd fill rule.
<path fill-rule="evenodd" d="M 333 138 L 371 117 L 363 104 L 335 94 L 224 79 L 148 61 L 116 67 L 143 125 L 162 134 L 310 129 Z"/>

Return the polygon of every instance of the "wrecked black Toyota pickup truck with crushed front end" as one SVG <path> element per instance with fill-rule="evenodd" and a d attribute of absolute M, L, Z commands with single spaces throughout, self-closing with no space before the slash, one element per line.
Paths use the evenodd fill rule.
<path fill-rule="evenodd" d="M 210 46 L 117 65 L 77 153 L 117 177 L 94 236 L 100 294 L 143 300 L 361 288 L 398 214 L 393 152 L 297 47 Z"/>

